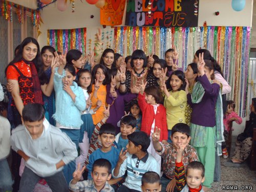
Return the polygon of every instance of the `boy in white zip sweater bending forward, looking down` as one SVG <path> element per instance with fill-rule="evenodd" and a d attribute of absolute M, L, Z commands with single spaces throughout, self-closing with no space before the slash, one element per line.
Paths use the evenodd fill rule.
<path fill-rule="evenodd" d="M 64 165 L 77 157 L 75 144 L 45 118 L 41 104 L 30 103 L 22 112 L 24 125 L 12 131 L 11 145 L 25 160 L 19 191 L 33 191 L 45 179 L 52 191 L 69 191 L 62 173 Z"/>

